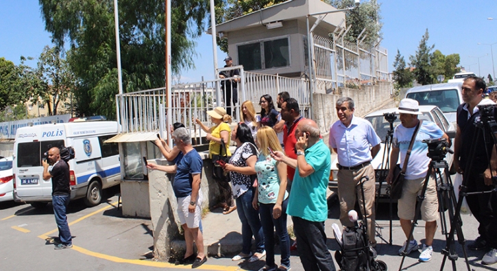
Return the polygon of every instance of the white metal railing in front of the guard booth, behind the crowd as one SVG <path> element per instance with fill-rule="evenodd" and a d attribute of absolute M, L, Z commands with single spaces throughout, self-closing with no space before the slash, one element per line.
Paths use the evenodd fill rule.
<path fill-rule="evenodd" d="M 205 132 L 194 125 L 193 119 L 199 119 L 210 126 L 210 117 L 206 114 L 217 106 L 217 90 L 220 91 L 221 106 L 226 108 L 226 84 L 235 82 L 232 92 L 238 92 L 237 104 L 228 106 L 232 112 L 232 121 L 239 122 L 240 106 L 244 100 L 250 100 L 259 108 L 260 96 L 269 94 L 276 100 L 276 95 L 288 91 L 300 104 L 303 115 L 308 113 L 309 83 L 304 79 L 282 78 L 278 75 L 267 75 L 243 71 L 243 67 L 223 68 L 240 69 L 240 76 L 210 80 L 192 84 L 177 84 L 171 88 L 171 123 L 181 122 L 196 138 L 195 145 L 203 145 Z M 238 81 L 238 82 L 237 82 Z M 233 93 L 231 93 L 233 97 Z M 276 105 L 276 104 L 275 104 Z M 167 89 L 149 89 L 116 95 L 117 121 L 121 124 L 121 132 L 162 132 L 167 133 Z M 228 111 L 228 110 L 227 110 Z"/>

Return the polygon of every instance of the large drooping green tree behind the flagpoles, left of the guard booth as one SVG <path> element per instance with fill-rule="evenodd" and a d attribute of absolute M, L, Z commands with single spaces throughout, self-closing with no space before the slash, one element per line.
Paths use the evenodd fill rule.
<path fill-rule="evenodd" d="M 208 0 L 171 2 L 171 69 L 194 67 L 194 38 L 204 30 Z M 117 54 L 112 1 L 40 0 L 45 29 L 64 47 L 77 77 L 80 114 L 116 114 Z M 120 0 L 119 40 L 124 92 L 165 86 L 165 1 Z"/>

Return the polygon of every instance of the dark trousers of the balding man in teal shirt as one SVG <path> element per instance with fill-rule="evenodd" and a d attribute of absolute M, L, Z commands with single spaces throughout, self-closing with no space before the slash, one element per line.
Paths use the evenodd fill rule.
<path fill-rule="evenodd" d="M 293 216 L 293 231 L 297 237 L 297 251 L 306 271 L 335 271 L 335 263 L 326 246 L 324 222 L 313 222 Z"/>

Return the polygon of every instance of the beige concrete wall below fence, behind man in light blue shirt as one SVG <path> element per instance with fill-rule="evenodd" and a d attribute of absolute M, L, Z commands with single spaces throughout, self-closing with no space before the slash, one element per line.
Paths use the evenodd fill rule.
<path fill-rule="evenodd" d="M 319 129 L 323 134 L 330 130 L 332 123 L 338 120 L 335 103 L 341 97 L 351 97 L 354 100 L 354 115 L 363 117 L 381 106 L 395 107 L 390 97 L 390 83 L 378 82 L 374 86 L 361 86 L 361 89 L 339 88 L 338 94 L 313 94 L 313 113 Z"/>

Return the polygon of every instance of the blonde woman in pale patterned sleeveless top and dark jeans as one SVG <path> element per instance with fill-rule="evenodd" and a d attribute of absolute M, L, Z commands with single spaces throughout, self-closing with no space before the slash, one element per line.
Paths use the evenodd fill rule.
<path fill-rule="evenodd" d="M 256 161 L 257 190 L 252 206 L 259 210 L 263 226 L 266 265 L 259 271 L 290 270 L 290 237 L 287 231 L 287 165 L 271 157 L 282 148 L 276 132 L 269 126 L 257 131 L 259 156 Z M 281 266 L 274 260 L 274 228 L 280 238 Z"/>

